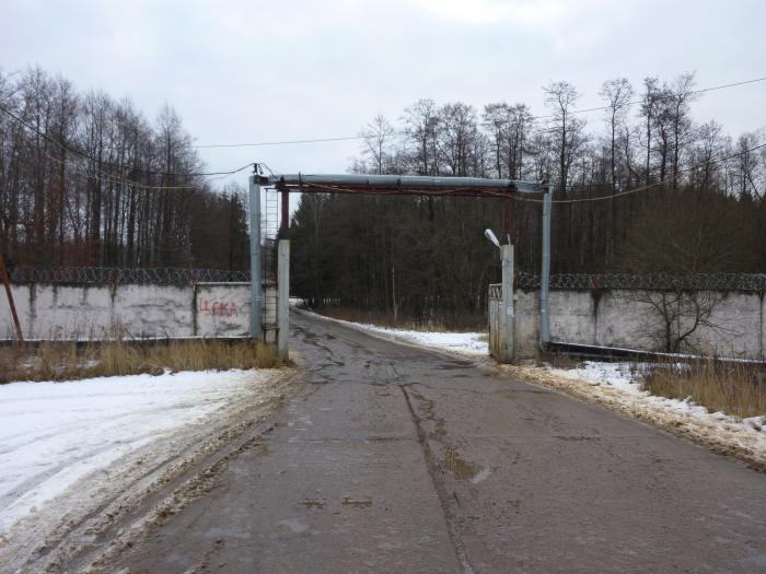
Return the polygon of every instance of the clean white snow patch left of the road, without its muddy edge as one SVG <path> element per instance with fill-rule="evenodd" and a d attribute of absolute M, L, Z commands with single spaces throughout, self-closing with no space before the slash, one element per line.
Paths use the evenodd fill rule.
<path fill-rule="evenodd" d="M 229 371 L 0 385 L 0 535 L 83 477 L 205 420 L 254 379 Z"/>

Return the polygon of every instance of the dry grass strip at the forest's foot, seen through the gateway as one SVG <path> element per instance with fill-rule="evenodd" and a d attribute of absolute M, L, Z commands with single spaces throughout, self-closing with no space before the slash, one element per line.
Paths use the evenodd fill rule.
<path fill-rule="evenodd" d="M 364 323 L 379 327 L 407 329 L 421 332 L 476 332 L 487 330 L 487 320 L 483 316 L 457 314 L 451 317 L 436 317 L 428 320 L 416 319 L 401 314 L 394 320 L 393 313 L 363 309 L 359 307 L 326 306 L 314 309 L 316 313 L 351 323 Z"/>

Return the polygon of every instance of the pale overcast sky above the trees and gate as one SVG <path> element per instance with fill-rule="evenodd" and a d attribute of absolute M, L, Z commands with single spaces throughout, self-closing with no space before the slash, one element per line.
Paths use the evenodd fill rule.
<path fill-rule="evenodd" d="M 150 118 L 169 103 L 200 144 L 332 138 L 379 113 L 395 121 L 420 97 L 542 114 L 554 80 L 587 108 L 616 77 L 765 77 L 766 1 L 2 0 L 0 67 L 35 65 Z M 694 116 L 736 136 L 766 124 L 765 101 L 766 82 L 722 90 Z M 345 172 L 358 153 L 353 141 L 201 150 L 210 169 L 282 173 Z"/>

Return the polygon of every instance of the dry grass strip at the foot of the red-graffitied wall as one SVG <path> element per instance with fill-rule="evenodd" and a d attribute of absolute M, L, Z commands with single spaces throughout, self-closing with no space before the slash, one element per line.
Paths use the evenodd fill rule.
<path fill-rule="evenodd" d="M 171 371 L 221 371 L 282 366 L 274 345 L 249 340 L 160 342 L 44 342 L 0 348 L 0 383 L 71 380 Z"/>

